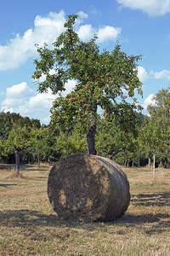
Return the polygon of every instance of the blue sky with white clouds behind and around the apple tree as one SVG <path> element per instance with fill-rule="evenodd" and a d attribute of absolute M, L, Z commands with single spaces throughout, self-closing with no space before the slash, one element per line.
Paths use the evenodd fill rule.
<path fill-rule="evenodd" d="M 170 84 L 170 0 L 0 0 L 0 7 L 1 111 L 48 124 L 56 96 L 50 91 L 39 94 L 31 79 L 38 57 L 35 44 L 51 45 L 71 14 L 79 15 L 77 32 L 82 40 L 95 33 L 101 50 L 112 50 L 119 41 L 128 55 L 143 55 L 138 64 L 144 84 L 139 102 L 144 109 Z M 66 92 L 73 85 L 69 81 Z"/>

